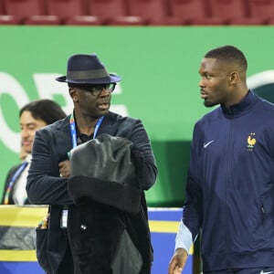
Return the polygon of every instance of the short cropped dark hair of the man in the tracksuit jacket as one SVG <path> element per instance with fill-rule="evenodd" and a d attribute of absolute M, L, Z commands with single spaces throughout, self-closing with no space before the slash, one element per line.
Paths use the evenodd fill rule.
<path fill-rule="evenodd" d="M 205 54 L 205 58 L 216 58 L 224 64 L 234 65 L 241 70 L 248 69 L 248 61 L 243 52 L 234 46 L 223 46 L 211 49 Z"/>

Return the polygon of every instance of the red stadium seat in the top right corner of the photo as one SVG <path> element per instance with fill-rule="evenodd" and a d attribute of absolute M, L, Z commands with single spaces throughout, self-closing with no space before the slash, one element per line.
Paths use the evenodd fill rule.
<path fill-rule="evenodd" d="M 252 18 L 267 21 L 274 16 L 274 0 L 248 0 L 248 9 Z"/>

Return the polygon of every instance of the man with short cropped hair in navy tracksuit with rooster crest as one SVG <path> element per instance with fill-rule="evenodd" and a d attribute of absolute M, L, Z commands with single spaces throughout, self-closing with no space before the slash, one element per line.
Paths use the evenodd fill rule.
<path fill-rule="evenodd" d="M 169 274 L 200 231 L 204 273 L 274 274 L 274 105 L 248 90 L 246 70 L 237 47 L 202 60 L 201 98 L 220 106 L 195 124 Z"/>

